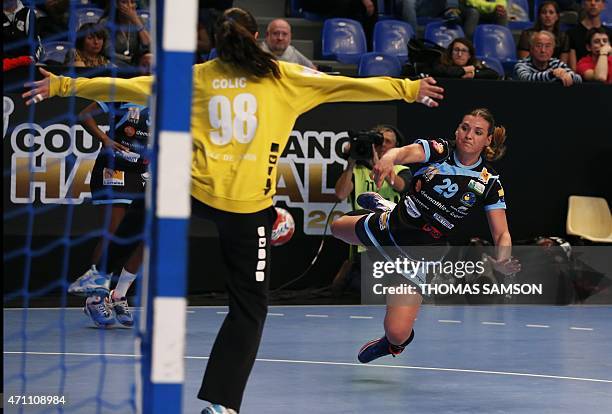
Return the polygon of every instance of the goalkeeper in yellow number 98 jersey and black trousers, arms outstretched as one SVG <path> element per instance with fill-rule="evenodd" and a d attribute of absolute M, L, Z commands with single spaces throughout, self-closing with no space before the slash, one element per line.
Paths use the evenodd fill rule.
<path fill-rule="evenodd" d="M 257 355 L 267 314 L 276 167 L 299 115 L 327 102 L 403 99 L 438 106 L 442 88 L 426 78 L 353 79 L 276 61 L 257 43 L 248 12 L 225 11 L 218 58 L 193 68 L 192 212 L 219 231 L 229 314 L 217 335 L 198 398 L 204 413 L 235 413 Z M 27 104 L 52 96 L 146 104 L 154 78 L 71 79 L 41 69 Z M 202 255 L 205 257 L 205 255 Z M 202 269 L 205 265 L 202 266 Z"/>

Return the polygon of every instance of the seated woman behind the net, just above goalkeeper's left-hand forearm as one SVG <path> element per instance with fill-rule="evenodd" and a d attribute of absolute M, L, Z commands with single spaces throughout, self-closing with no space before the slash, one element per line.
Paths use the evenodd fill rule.
<path fill-rule="evenodd" d="M 104 55 L 108 43 L 108 34 L 102 26 L 85 23 L 77 32 L 74 53 L 69 54 L 66 64 L 81 68 L 112 66 Z"/>

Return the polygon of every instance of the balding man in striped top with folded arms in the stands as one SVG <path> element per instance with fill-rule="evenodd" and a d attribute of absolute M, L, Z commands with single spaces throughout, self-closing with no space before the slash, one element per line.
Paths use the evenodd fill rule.
<path fill-rule="evenodd" d="M 514 78 L 529 82 L 560 81 L 563 86 L 582 82 L 580 75 L 574 73 L 567 64 L 552 57 L 555 35 L 542 30 L 531 37 L 529 56 L 519 60 L 514 66 Z"/>

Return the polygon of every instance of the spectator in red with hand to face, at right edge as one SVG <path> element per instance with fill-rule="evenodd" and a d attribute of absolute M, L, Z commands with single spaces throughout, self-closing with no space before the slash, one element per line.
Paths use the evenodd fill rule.
<path fill-rule="evenodd" d="M 576 71 L 584 80 L 611 84 L 612 47 L 603 27 L 589 29 L 586 48 L 591 54 L 578 61 Z"/>

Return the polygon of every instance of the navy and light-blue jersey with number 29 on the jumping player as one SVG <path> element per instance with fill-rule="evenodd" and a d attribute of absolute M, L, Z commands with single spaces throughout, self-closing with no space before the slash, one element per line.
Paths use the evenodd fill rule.
<path fill-rule="evenodd" d="M 445 239 L 475 208 L 505 209 L 499 175 L 482 158 L 462 165 L 442 139 L 417 140 L 425 163 L 413 174 L 409 191 L 393 210 L 392 231 L 400 244 Z M 421 230 L 421 237 L 401 237 L 403 230 Z"/>

